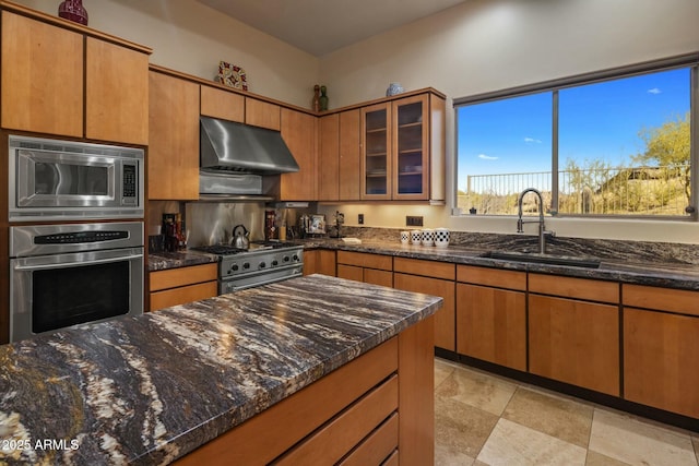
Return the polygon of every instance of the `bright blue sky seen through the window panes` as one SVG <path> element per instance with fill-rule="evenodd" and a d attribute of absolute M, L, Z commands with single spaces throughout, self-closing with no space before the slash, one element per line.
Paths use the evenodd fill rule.
<path fill-rule="evenodd" d="M 689 87 L 689 70 L 680 69 L 561 89 L 559 165 L 625 165 L 643 151 L 643 128 L 684 118 Z M 460 107 L 458 118 L 459 189 L 467 175 L 550 170 L 550 93 Z"/>

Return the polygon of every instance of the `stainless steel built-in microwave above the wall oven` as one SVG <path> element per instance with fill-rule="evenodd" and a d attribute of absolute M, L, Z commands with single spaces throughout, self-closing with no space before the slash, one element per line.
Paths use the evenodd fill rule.
<path fill-rule="evenodd" d="M 11 135 L 10 222 L 143 217 L 143 150 Z"/>

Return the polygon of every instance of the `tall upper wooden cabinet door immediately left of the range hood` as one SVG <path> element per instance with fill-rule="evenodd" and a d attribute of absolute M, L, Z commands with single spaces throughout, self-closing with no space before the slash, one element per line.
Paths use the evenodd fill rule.
<path fill-rule="evenodd" d="M 149 87 L 149 199 L 198 200 L 199 84 L 153 70 Z"/>

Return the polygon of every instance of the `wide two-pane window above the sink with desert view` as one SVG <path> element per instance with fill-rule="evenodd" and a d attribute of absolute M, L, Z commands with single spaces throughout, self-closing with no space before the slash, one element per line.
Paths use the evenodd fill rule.
<path fill-rule="evenodd" d="M 683 57 L 454 100 L 458 207 L 513 215 L 535 188 L 548 215 L 696 218 L 696 73 Z"/>

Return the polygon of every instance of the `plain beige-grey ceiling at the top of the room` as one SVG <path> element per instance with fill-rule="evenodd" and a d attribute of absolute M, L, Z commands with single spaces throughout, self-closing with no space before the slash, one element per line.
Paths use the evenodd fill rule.
<path fill-rule="evenodd" d="M 465 0 L 198 0 L 316 57 Z"/>

